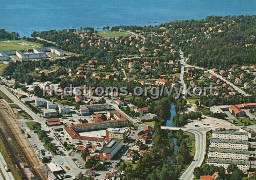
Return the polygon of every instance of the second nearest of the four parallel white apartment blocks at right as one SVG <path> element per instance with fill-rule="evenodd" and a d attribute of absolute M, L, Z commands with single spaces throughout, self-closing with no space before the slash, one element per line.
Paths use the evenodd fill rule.
<path fill-rule="evenodd" d="M 210 148 L 208 152 L 208 158 L 248 161 L 249 151 L 239 149 Z"/>

